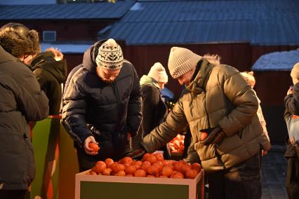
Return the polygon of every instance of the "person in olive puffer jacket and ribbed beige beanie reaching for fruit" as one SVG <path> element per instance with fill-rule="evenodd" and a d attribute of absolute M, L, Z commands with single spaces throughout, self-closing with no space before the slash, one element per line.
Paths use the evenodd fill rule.
<path fill-rule="evenodd" d="M 185 92 L 166 121 L 128 156 L 154 152 L 189 124 L 208 177 L 209 198 L 260 198 L 261 146 L 269 141 L 256 114 L 255 92 L 234 67 L 187 48 L 171 48 L 168 69 L 186 85 Z"/>

